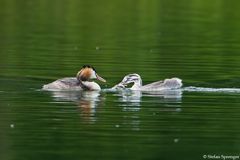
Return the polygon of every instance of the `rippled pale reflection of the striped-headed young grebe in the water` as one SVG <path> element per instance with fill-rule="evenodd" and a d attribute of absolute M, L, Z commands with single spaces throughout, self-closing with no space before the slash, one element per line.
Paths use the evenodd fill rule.
<path fill-rule="evenodd" d="M 118 97 L 119 106 L 122 107 L 124 121 L 122 124 L 134 131 L 141 130 L 141 108 L 144 103 L 152 103 L 154 107 L 148 109 L 152 116 L 159 116 L 160 112 L 180 112 L 182 91 L 180 89 L 161 91 L 137 91 L 131 89 L 114 90 Z M 160 105 L 159 105 L 160 104 Z M 146 109 L 146 108 L 145 108 Z"/>

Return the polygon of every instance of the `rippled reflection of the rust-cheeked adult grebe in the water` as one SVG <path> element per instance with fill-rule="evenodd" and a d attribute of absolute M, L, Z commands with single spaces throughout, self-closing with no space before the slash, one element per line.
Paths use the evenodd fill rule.
<path fill-rule="evenodd" d="M 100 91 L 53 91 L 55 101 L 74 102 L 80 110 L 81 118 L 89 123 L 96 121 L 96 109 L 104 99 Z"/>

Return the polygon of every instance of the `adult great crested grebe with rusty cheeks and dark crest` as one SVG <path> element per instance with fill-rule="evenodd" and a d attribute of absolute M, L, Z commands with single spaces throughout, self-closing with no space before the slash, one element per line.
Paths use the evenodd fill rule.
<path fill-rule="evenodd" d="M 91 81 L 97 79 L 106 82 L 105 79 L 100 77 L 96 70 L 89 65 L 84 65 L 77 73 L 76 77 L 66 77 L 58 79 L 52 83 L 43 85 L 43 90 L 101 90 L 100 86 Z"/>

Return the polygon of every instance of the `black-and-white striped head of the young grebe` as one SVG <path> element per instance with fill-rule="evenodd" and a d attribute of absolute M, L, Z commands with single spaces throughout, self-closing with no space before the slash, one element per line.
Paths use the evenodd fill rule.
<path fill-rule="evenodd" d="M 134 83 L 134 85 L 142 86 L 142 79 L 138 74 L 133 73 L 133 74 L 126 75 L 121 81 L 121 84 L 123 84 L 124 86 L 127 86 L 130 83 Z"/>

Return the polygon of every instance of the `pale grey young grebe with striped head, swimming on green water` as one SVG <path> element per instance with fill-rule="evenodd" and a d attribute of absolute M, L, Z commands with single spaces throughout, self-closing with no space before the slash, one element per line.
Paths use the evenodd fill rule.
<path fill-rule="evenodd" d="M 133 83 L 133 86 L 130 88 L 131 90 L 139 91 L 161 91 L 164 89 L 178 89 L 182 86 L 182 80 L 179 78 L 165 79 L 163 81 L 142 85 L 140 75 L 133 73 L 126 75 L 119 84 L 113 87 L 113 89 L 123 89 L 130 83 Z"/>

